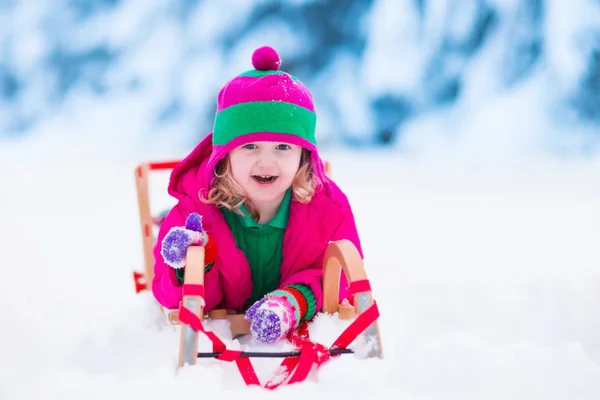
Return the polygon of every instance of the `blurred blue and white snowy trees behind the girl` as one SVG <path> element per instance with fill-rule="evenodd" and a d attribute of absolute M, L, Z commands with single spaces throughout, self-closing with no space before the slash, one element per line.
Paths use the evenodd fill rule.
<path fill-rule="evenodd" d="M 0 147 L 184 151 L 264 44 L 313 90 L 323 147 L 600 138 L 598 0 L 0 0 Z"/>

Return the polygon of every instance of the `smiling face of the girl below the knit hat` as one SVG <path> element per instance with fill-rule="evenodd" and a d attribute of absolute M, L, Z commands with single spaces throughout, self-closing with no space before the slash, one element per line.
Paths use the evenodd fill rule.
<path fill-rule="evenodd" d="M 229 153 L 235 181 L 254 204 L 281 201 L 300 166 L 302 147 L 254 142 Z"/>

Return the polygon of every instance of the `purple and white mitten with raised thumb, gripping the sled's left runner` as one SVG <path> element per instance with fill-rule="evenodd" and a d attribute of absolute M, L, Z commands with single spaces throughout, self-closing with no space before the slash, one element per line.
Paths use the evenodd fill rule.
<path fill-rule="evenodd" d="M 160 254 L 171 268 L 183 268 L 187 248 L 192 244 L 204 246 L 207 240 L 208 236 L 202 228 L 202 216 L 191 213 L 185 221 L 185 227 L 174 226 L 165 235 Z"/>

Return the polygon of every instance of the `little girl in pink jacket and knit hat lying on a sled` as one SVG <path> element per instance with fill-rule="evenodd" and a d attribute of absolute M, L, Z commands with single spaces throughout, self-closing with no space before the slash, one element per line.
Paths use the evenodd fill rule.
<path fill-rule="evenodd" d="M 220 90 L 213 132 L 173 169 L 168 192 L 178 202 L 158 234 L 152 291 L 178 308 L 187 247 L 210 237 L 218 254 L 205 266 L 204 311 L 245 312 L 252 336 L 273 343 L 320 310 L 329 242 L 362 250 L 317 152 L 310 91 L 279 70 L 270 47 L 252 64 Z M 347 295 L 342 273 L 340 301 Z"/>

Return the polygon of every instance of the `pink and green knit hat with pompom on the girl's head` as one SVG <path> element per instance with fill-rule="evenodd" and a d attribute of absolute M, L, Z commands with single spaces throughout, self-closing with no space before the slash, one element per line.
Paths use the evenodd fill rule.
<path fill-rule="evenodd" d="M 296 77 L 279 70 L 281 59 L 272 47 L 256 49 L 252 65 L 254 70 L 236 76 L 219 91 L 207 171 L 212 174 L 219 160 L 239 146 L 270 141 L 310 150 L 317 161 L 313 169 L 322 176 L 312 94 Z"/>

